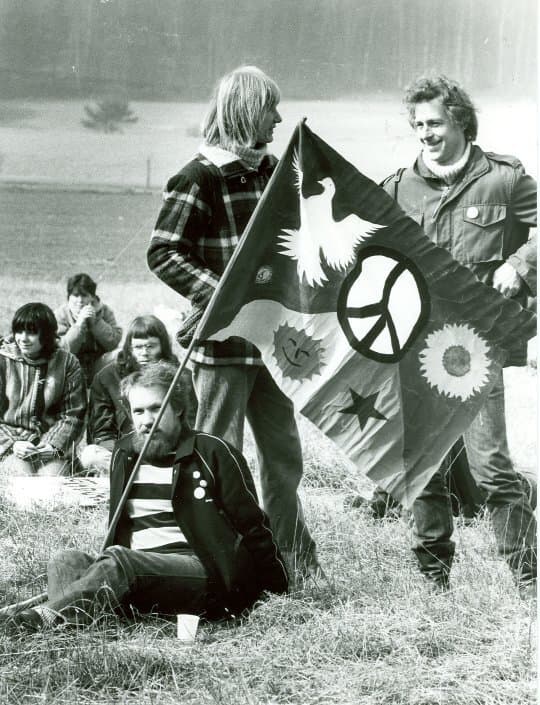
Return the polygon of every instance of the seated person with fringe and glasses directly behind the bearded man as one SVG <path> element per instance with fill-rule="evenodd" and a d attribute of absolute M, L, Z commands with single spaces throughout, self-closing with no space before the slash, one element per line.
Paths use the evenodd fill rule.
<path fill-rule="evenodd" d="M 131 417 L 120 393 L 121 380 L 148 364 L 166 360 L 178 364 L 171 348 L 165 325 L 153 315 L 137 316 L 130 323 L 124 345 L 116 360 L 103 367 L 90 388 L 87 438 L 80 461 L 83 468 L 95 474 L 109 471 L 112 449 L 116 441 L 132 430 Z M 189 393 L 190 425 L 197 412 L 197 400 L 186 368 L 181 379 Z"/>

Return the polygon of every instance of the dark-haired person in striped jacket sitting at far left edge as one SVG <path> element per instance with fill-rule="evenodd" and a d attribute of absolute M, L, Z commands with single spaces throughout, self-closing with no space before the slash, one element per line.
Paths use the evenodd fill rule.
<path fill-rule="evenodd" d="M 0 344 L 0 467 L 15 475 L 70 470 L 86 388 L 77 358 L 57 344 L 52 310 L 21 306 Z"/>

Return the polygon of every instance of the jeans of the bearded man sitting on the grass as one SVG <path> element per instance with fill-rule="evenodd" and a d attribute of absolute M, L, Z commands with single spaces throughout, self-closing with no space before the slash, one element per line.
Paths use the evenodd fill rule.
<path fill-rule="evenodd" d="M 97 558 L 64 551 L 48 566 L 44 603 L 68 622 L 91 621 L 104 609 L 200 614 L 207 576 L 192 551 L 153 553 L 110 546 Z"/>

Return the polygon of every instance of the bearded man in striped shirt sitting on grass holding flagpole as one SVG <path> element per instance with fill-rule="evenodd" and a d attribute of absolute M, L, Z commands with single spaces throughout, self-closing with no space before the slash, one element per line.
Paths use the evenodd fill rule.
<path fill-rule="evenodd" d="M 240 615 L 265 591 L 287 592 L 287 572 L 244 457 L 189 428 L 181 383 L 120 505 L 176 369 L 160 361 L 122 380 L 134 431 L 112 457 L 106 547 L 97 558 L 65 551 L 52 559 L 47 601 L 4 612 L 8 632 L 81 624 L 111 607 L 221 619 Z"/>

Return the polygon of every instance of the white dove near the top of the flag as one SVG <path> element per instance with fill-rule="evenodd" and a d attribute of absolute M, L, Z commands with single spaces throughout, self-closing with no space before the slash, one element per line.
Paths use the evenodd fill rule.
<path fill-rule="evenodd" d="M 296 151 L 292 165 L 296 172 L 296 186 L 300 197 L 300 228 L 283 228 L 285 235 L 278 236 L 281 240 L 279 245 L 282 247 L 280 254 L 297 261 L 296 269 L 300 281 L 304 276 L 309 286 L 320 286 L 328 281 L 322 269 L 321 256 L 332 269 L 345 269 L 354 260 L 355 247 L 385 226 L 362 220 L 354 213 L 343 220 L 334 220 L 332 199 L 336 186 L 332 178 L 326 176 L 317 182 L 323 187 L 322 193 L 304 198 L 303 173 Z"/>

